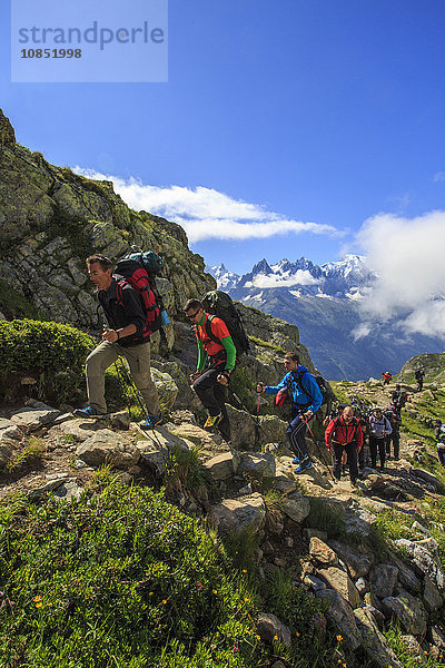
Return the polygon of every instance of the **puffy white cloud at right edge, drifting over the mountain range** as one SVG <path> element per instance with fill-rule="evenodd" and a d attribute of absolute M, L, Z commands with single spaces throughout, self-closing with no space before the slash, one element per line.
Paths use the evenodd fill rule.
<path fill-rule="evenodd" d="M 445 335 L 445 212 L 416 218 L 380 214 L 357 235 L 367 265 L 377 275 L 360 307 L 364 317 L 397 317 L 406 332 Z M 366 335 L 364 325 L 355 336 Z"/>

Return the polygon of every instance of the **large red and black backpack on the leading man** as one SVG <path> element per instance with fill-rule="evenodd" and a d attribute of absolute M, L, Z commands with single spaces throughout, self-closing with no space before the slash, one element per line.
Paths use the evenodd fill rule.
<path fill-rule="evenodd" d="M 162 297 L 156 289 L 155 277 L 150 276 L 147 269 L 135 259 L 120 259 L 116 265 L 115 277 L 117 282 L 117 297 L 123 306 L 122 287 L 126 283 L 131 285 L 139 295 L 140 303 L 146 314 L 146 326 L 142 332 L 142 338 L 148 338 L 150 334 L 161 327 L 161 311 L 164 310 Z"/>

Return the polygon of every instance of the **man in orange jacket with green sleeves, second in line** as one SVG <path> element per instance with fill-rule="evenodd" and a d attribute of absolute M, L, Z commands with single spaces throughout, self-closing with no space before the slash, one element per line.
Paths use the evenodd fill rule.
<path fill-rule="evenodd" d="M 204 429 L 217 426 L 221 436 L 230 441 L 224 389 L 235 369 L 235 344 L 226 323 L 206 313 L 198 299 L 188 299 L 182 311 L 194 326 L 198 343 L 198 362 L 190 383 L 208 411 Z"/>

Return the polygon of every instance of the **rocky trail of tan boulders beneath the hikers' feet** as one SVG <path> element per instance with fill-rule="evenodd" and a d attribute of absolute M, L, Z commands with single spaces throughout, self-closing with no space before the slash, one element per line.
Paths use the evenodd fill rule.
<path fill-rule="evenodd" d="M 387 403 L 387 389 L 348 391 L 376 405 Z M 415 405 L 414 397 L 408 410 Z M 210 488 L 189 489 L 177 478 L 167 484 L 169 500 L 192 517 L 207 518 L 221 533 L 245 528 L 256 533 L 263 577 L 286 569 L 296 586 L 330 603 L 319 633 L 326 633 L 328 625 L 340 633 L 345 647 L 362 648 L 382 667 L 402 667 L 382 633 L 384 622 L 395 619 L 416 656 L 442 660 L 445 635 L 433 620 L 443 606 L 445 574 L 438 544 L 422 518 L 425 501 L 441 500 L 443 484 L 406 459 L 424 445 L 404 436 L 402 459 L 388 462 L 384 471 L 365 469 L 353 488 L 346 477 L 334 482 L 323 444 L 308 440 L 314 466 L 296 475 L 283 431 L 279 442 L 264 444 L 261 451 L 237 450 L 200 429 L 188 411 L 174 411 L 170 418 L 146 433 L 130 423 L 126 412 L 107 421 L 87 421 L 36 400 L 3 411 L 0 497 L 7 500 L 22 492 L 36 501 L 46 493 L 78 499 L 102 464 L 113 466 L 122 482 L 159 487 L 166 483 L 172 453 L 198 448 Z M 255 426 L 243 411 L 233 418 L 245 430 Z M 408 538 L 400 534 L 379 553 L 373 544 L 374 528 L 384 511 L 404 515 L 411 529 Z M 338 534 L 333 523 L 340 527 Z M 270 623 L 274 633 L 287 638 L 279 620 Z"/>

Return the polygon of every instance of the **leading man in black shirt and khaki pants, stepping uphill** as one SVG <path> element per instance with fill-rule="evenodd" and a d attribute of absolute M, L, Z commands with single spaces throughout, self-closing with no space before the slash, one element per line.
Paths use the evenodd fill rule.
<path fill-rule="evenodd" d="M 102 334 L 102 343 L 87 357 L 89 405 L 77 409 L 73 414 L 96 418 L 107 413 L 105 371 L 121 355 L 130 366 L 131 377 L 147 407 L 148 415 L 141 426 L 154 429 L 160 423 L 161 415 L 158 391 L 150 373 L 150 343 L 139 295 L 131 285 L 111 273 L 111 261 L 105 255 L 88 257 L 87 267 L 109 328 Z"/>

